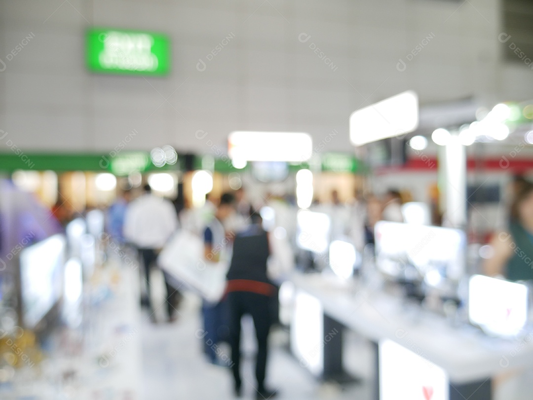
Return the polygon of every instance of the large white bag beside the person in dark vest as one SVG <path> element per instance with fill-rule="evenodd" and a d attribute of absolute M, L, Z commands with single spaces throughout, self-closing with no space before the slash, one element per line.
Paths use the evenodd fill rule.
<path fill-rule="evenodd" d="M 207 301 L 219 301 L 224 295 L 229 264 L 204 260 L 204 242 L 198 235 L 187 230 L 174 234 L 161 250 L 158 265 Z"/>

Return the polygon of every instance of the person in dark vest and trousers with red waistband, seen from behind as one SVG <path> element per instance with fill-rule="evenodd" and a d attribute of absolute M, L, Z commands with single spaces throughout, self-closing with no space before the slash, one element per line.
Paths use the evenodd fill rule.
<path fill-rule="evenodd" d="M 277 391 L 264 386 L 268 335 L 272 323 L 271 296 L 275 292 L 266 274 L 266 260 L 270 255 L 268 234 L 261 227 L 259 214 L 252 214 L 252 225 L 238 233 L 233 242 L 233 255 L 227 274 L 227 300 L 229 307 L 229 329 L 235 395 L 241 396 L 240 376 L 240 322 L 245 314 L 254 321 L 257 336 L 257 358 L 255 377 L 256 398 L 268 399 Z"/>

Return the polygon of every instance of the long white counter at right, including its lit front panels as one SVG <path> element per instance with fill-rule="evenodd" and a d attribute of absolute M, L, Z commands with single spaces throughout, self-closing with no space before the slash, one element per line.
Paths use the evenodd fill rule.
<path fill-rule="evenodd" d="M 295 315 L 291 323 L 291 331 L 296 330 L 291 338 L 295 356 L 302 359 L 302 354 L 309 355 L 309 349 L 317 348 L 317 340 L 320 344 L 328 333 L 338 331 L 339 334 L 329 335 L 330 340 L 324 346 L 324 358 L 307 357 L 309 362 L 303 364 L 317 378 L 338 380 L 336 376 L 343 375 L 340 332 L 343 328 L 357 332 L 374 344 L 378 377 L 375 400 L 400 398 L 403 393 L 396 393 L 396 397 L 394 394 L 390 397 L 390 394 L 384 396 L 380 393 L 379 381 L 385 376 L 385 365 L 385 372 L 393 378 L 393 382 L 383 381 L 385 386 L 382 387 L 407 386 L 405 393 L 413 393 L 412 396 L 416 398 L 423 396 L 425 382 L 429 382 L 424 390 L 427 390 L 425 396 L 432 400 L 490 400 L 494 396 L 492 377 L 533 366 L 533 342 L 526 339 L 489 338 L 472 326 L 454 326 L 445 317 L 424 311 L 421 307 L 411 305 L 411 308 L 406 308 L 402 299 L 382 291 L 364 293 L 358 297 L 357 291 L 354 291 L 356 286 L 346 288 L 345 284 L 328 281 L 318 274 L 295 274 L 291 281 L 296 287 Z M 316 315 L 322 316 L 323 325 L 316 322 L 320 321 Z M 306 347 L 293 345 L 298 336 L 303 337 L 302 332 L 306 335 Z M 389 341 L 394 345 L 390 347 L 398 349 L 394 353 L 410 354 L 409 365 L 406 357 L 392 353 L 380 360 L 384 341 Z M 520 352 L 514 350 L 516 346 L 520 346 Z M 508 356 L 505 365 L 502 365 L 503 356 L 510 354 L 513 356 Z M 388 364 L 380 365 L 382 360 Z M 427 368 L 427 363 L 435 368 Z M 416 372 L 411 365 L 422 373 Z M 436 370 L 437 378 L 431 372 L 426 374 L 425 380 L 421 380 L 421 375 L 429 370 Z M 400 375 L 405 377 L 398 379 Z M 431 395 L 433 388 L 435 394 Z"/>

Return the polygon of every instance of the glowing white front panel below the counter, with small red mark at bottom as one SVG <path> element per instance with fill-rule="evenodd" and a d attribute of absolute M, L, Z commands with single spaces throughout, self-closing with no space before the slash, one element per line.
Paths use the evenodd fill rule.
<path fill-rule="evenodd" d="M 379 400 L 449 400 L 446 372 L 386 339 L 379 342 Z"/>

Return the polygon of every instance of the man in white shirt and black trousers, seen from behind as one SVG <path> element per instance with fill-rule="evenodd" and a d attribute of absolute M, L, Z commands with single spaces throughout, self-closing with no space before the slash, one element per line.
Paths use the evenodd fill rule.
<path fill-rule="evenodd" d="M 156 262 L 158 252 L 176 229 L 177 215 L 172 203 L 152 194 L 150 185 L 145 185 L 144 194 L 128 205 L 124 221 L 124 236 L 139 249 L 147 283 L 148 298 L 144 302 L 151 311 L 154 308 L 150 303 L 150 267 Z M 166 276 L 165 285 L 168 318 L 172 320 L 173 303 L 179 293 L 168 283 Z"/>

